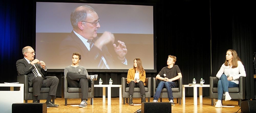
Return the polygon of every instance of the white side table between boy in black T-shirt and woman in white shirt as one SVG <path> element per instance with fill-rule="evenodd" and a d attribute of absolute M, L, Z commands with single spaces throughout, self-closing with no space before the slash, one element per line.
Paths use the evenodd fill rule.
<path fill-rule="evenodd" d="M 199 101 L 203 103 L 202 87 L 210 87 L 210 84 L 193 84 L 182 85 L 182 101 L 185 104 L 185 87 L 192 87 L 194 89 L 194 105 L 197 105 L 197 88 L 199 88 Z"/>

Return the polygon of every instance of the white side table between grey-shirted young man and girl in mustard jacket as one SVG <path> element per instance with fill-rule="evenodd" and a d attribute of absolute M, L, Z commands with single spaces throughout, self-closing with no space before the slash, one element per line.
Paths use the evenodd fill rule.
<path fill-rule="evenodd" d="M 106 103 L 106 88 L 107 88 L 107 105 L 111 105 L 111 88 L 119 87 L 119 103 L 122 104 L 122 85 L 109 84 L 94 84 L 94 87 L 102 87 L 102 102 Z"/>

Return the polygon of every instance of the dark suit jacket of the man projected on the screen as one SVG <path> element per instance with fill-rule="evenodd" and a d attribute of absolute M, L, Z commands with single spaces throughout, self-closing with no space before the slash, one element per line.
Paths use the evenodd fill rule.
<path fill-rule="evenodd" d="M 93 42 L 97 40 L 95 38 Z M 72 31 L 70 35 L 68 35 L 63 41 L 61 41 L 59 47 L 59 55 L 61 56 L 61 62 L 67 62 L 67 65 L 70 64 L 72 59 L 72 53 L 79 52 L 81 54 L 80 65 L 84 65 L 85 67 L 92 67 L 94 69 L 98 68 L 98 64 L 101 60 L 101 56 L 104 56 L 106 62 L 110 69 L 115 68 L 115 63 L 119 63 L 119 65 L 124 65 L 120 60 L 117 59 L 116 54 L 111 55 L 108 51 L 107 46 L 102 47 L 102 51 L 97 47 L 93 46 L 89 51 L 84 43 L 75 35 Z"/>

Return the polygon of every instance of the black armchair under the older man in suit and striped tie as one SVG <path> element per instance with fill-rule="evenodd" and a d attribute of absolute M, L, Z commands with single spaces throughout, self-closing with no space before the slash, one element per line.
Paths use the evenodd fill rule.
<path fill-rule="evenodd" d="M 56 77 L 56 76 L 45 76 L 46 78 L 50 78 L 50 77 Z M 17 81 L 20 83 L 24 84 L 24 100 L 25 103 L 28 103 L 28 100 L 33 100 L 32 99 L 32 94 L 33 94 L 33 87 L 29 87 L 29 83 L 28 83 L 28 75 L 18 75 L 17 76 Z M 48 93 L 50 91 L 50 88 L 41 88 L 40 90 L 40 96 L 38 96 L 38 99 L 47 99 L 48 97 Z M 54 103 L 54 99 L 53 99 L 53 103 Z"/>

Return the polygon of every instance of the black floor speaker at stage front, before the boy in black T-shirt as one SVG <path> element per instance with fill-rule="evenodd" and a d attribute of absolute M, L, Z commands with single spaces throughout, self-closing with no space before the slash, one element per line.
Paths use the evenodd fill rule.
<path fill-rule="evenodd" d="M 171 103 L 143 102 L 141 103 L 141 113 L 171 113 Z"/>

